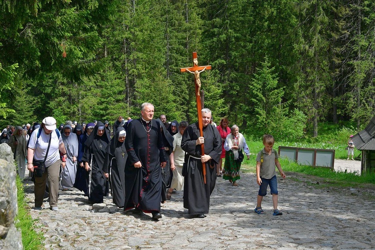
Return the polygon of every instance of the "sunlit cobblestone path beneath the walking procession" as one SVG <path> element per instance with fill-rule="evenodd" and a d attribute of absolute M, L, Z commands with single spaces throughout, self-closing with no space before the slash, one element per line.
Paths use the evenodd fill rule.
<path fill-rule="evenodd" d="M 278 177 L 281 216 L 272 216 L 267 194 L 256 214 L 254 174 L 241 173 L 238 186 L 217 179 L 210 210 L 192 218 L 182 206 L 182 192 L 161 204 L 162 218 L 124 212 L 111 203 L 89 205 L 72 189 L 60 191 L 58 211 L 30 210 L 46 249 L 371 249 L 375 246 L 375 190 L 321 188 L 316 178 L 286 173 Z M 278 175 L 279 176 L 279 175 Z M 24 181 L 29 206 L 33 186 Z M 269 189 L 268 189 L 269 191 Z"/>

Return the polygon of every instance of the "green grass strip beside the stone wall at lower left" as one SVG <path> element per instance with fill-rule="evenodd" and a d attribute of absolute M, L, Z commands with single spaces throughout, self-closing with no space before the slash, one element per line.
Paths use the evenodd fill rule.
<path fill-rule="evenodd" d="M 15 217 L 15 226 L 21 230 L 22 233 L 22 244 L 24 249 L 39 250 L 44 249 L 42 240 L 44 236 L 41 232 L 35 232 L 35 220 L 31 218 L 28 213 L 27 204 L 25 201 L 23 185 L 19 177 L 16 179 L 17 185 L 17 202 L 18 202 L 18 214 Z"/>

